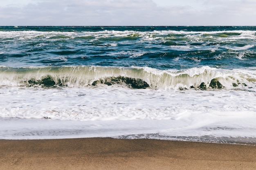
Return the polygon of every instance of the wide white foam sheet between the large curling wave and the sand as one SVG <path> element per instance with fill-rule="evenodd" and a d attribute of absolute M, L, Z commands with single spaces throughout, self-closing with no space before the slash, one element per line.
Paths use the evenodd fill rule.
<path fill-rule="evenodd" d="M 1 87 L 0 94 L 2 139 L 114 137 L 141 133 L 256 137 L 255 92 L 156 91 L 108 86 Z"/>

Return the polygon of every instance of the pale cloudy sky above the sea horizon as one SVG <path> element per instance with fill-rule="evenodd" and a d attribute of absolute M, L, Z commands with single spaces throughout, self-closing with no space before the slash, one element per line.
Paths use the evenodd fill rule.
<path fill-rule="evenodd" d="M 256 26 L 256 0 L 0 0 L 0 26 Z"/>

